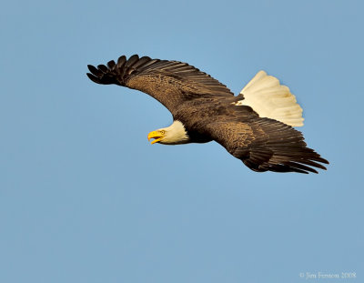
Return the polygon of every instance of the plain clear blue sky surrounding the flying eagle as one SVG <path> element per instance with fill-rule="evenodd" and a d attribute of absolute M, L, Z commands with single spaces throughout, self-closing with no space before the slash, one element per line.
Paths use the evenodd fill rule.
<path fill-rule="evenodd" d="M 359 1 L 11 1 L 0 11 L 1 282 L 303 282 L 364 271 Z M 188 62 L 234 93 L 258 70 L 304 108 L 319 175 L 258 174 L 87 64 Z M 316 280 L 317 281 L 317 280 Z M 329 281 L 328 279 L 326 281 Z"/>

